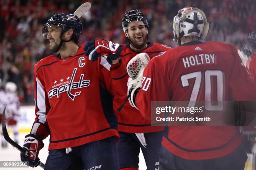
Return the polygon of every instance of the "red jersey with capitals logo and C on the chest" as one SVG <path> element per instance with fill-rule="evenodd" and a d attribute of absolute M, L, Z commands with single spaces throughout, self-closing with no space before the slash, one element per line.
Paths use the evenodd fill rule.
<path fill-rule="evenodd" d="M 56 54 L 40 60 L 34 69 L 31 133 L 42 139 L 50 134 L 49 150 L 118 136 L 112 95 L 127 94 L 127 88 L 118 86 L 127 82 L 118 75 L 127 72 L 122 62 L 117 65 L 112 69 L 104 57 L 92 62 L 82 48 L 66 59 Z"/>

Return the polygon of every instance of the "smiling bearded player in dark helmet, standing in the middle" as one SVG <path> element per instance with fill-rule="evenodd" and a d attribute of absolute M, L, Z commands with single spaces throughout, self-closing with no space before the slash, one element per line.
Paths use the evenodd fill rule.
<path fill-rule="evenodd" d="M 122 26 L 127 44 L 123 45 L 120 58 L 127 65 L 135 55 L 146 52 L 150 58 L 162 55 L 170 49 L 163 44 L 148 42 L 148 22 L 140 10 L 125 12 Z M 88 54 L 94 55 L 99 39 L 92 40 L 88 45 Z M 92 60 L 97 60 L 97 56 Z M 120 74 L 121 76 L 121 74 Z M 127 82 L 122 84 L 127 87 Z M 139 152 L 142 150 L 148 170 L 155 170 L 159 165 L 158 152 L 161 147 L 163 126 L 151 126 L 151 120 L 145 120 L 136 108 L 125 102 L 125 97 L 114 97 L 114 110 L 118 117 L 118 156 L 121 170 L 138 170 Z M 120 111 L 118 108 L 123 104 Z"/>

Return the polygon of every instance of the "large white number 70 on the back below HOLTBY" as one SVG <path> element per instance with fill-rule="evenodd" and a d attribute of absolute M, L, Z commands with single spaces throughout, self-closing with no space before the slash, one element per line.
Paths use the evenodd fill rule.
<path fill-rule="evenodd" d="M 197 97 L 199 95 L 199 90 L 202 85 L 202 76 L 203 74 L 201 71 L 192 72 L 192 73 L 181 76 L 182 87 L 189 86 L 188 80 L 195 78 L 195 83 L 193 85 L 188 107 L 195 107 Z M 206 70 L 204 76 L 205 76 L 205 110 L 209 110 L 209 111 L 223 110 L 223 72 L 221 70 Z M 218 105 L 211 104 L 211 95 L 212 95 L 211 76 L 217 77 Z"/>

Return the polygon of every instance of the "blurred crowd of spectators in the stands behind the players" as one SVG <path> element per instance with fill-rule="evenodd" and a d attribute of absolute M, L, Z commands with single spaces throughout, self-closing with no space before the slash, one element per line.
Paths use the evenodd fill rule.
<path fill-rule="evenodd" d="M 82 16 L 79 45 L 95 37 L 126 42 L 121 20 L 127 10 L 140 9 L 148 20 L 148 39 L 173 47 L 173 17 L 187 5 L 202 9 L 210 23 L 206 40 L 230 42 L 241 48 L 256 30 L 255 0 L 89 0 Z M 52 54 L 42 37 L 43 25 L 56 13 L 73 13 L 82 0 L 0 0 L 0 78 L 15 82 L 22 103 L 33 103 L 33 66 Z M 56 70 L 58 71 L 58 70 Z M 61 70 L 59 70 L 61 71 Z"/>

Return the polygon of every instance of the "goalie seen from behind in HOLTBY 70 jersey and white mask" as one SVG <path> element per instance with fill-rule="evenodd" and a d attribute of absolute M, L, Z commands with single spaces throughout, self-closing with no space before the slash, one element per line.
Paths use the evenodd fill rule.
<path fill-rule="evenodd" d="M 223 101 L 255 100 L 236 47 L 200 41 L 208 28 L 197 7 L 185 7 L 174 17 L 174 40 L 181 46 L 153 58 L 142 85 L 129 90 L 131 103 L 145 118 L 151 118 L 151 101 L 188 101 L 195 107 L 195 101 L 218 100 L 205 105 L 218 110 Z M 166 126 L 161 144 L 159 170 L 243 170 L 247 160 L 235 126 Z"/>

